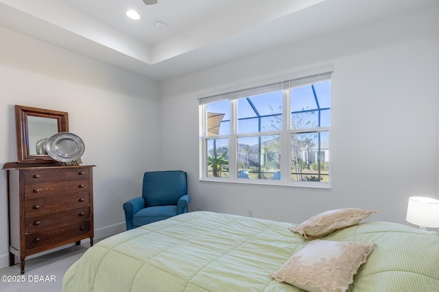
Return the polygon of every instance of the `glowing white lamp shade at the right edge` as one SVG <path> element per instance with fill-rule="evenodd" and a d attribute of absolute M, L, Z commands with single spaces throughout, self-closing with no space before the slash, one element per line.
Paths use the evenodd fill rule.
<path fill-rule="evenodd" d="M 418 226 L 438 228 L 439 200 L 425 197 L 410 197 L 405 220 Z"/>

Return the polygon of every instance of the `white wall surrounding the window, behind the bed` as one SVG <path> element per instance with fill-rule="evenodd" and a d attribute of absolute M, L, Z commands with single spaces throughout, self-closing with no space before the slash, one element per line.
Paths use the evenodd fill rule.
<path fill-rule="evenodd" d="M 188 172 L 191 210 L 301 222 L 327 209 L 376 209 L 405 222 L 412 195 L 438 197 L 438 4 L 161 83 L 162 168 Z M 292 28 L 294 29 L 294 28 Z M 261 36 L 263 37 L 263 36 Z M 332 64 L 332 188 L 198 180 L 198 101 Z"/>

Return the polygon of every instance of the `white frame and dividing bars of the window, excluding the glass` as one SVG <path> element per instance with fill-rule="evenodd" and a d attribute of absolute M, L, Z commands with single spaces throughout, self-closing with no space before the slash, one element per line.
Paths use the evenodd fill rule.
<path fill-rule="evenodd" d="M 259 185 L 287 185 L 298 187 L 317 187 L 317 188 L 330 188 L 331 187 L 331 165 L 329 163 L 329 182 L 313 182 L 313 181 L 294 181 L 291 179 L 291 175 L 282 175 L 280 180 L 267 180 L 267 179 L 243 179 L 237 178 L 237 140 L 239 137 L 249 136 L 265 136 L 265 135 L 280 135 L 281 137 L 281 173 L 291 174 L 291 159 L 292 159 L 292 142 L 291 135 L 294 133 L 309 133 L 309 132 L 324 132 L 329 133 L 329 140 L 331 139 L 331 127 L 313 127 L 309 129 L 290 129 L 291 125 L 291 96 L 290 92 L 292 88 L 309 85 L 312 83 L 318 83 L 320 81 L 327 81 L 332 79 L 333 70 L 325 70 L 322 73 L 309 75 L 307 77 L 300 77 L 296 79 L 289 79 L 287 81 L 281 81 L 276 83 L 270 83 L 268 85 L 257 86 L 253 88 L 247 88 L 245 90 L 237 90 L 235 92 L 227 92 L 224 94 L 217 94 L 213 96 L 206 96 L 198 98 L 199 100 L 199 116 L 200 116 L 200 181 L 215 181 L 224 183 L 250 183 Z M 279 87 L 280 85 L 280 87 Z M 245 133 L 237 134 L 237 99 L 244 98 L 246 96 L 254 96 L 261 94 L 262 92 L 276 91 L 273 88 L 281 88 L 283 91 L 283 129 L 281 131 L 272 132 L 257 132 L 257 133 Z M 332 94 L 331 94 L 332 95 Z M 208 137 L 206 135 L 206 105 L 214 103 L 216 101 L 230 100 L 230 134 L 228 135 L 215 135 Z M 332 109 L 332 96 L 331 107 Z M 207 176 L 207 140 L 211 139 L 228 139 L 228 177 L 214 177 Z M 287 142 L 285 142 L 285 140 Z M 331 144 L 329 143 L 329 157 L 331 156 Z M 286 157 L 286 159 L 284 158 Z M 331 161 L 331 159 L 329 159 Z"/>

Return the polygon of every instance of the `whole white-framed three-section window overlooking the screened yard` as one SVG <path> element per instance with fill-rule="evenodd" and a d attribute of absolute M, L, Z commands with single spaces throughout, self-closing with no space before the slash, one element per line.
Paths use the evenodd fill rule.
<path fill-rule="evenodd" d="M 200 98 L 200 177 L 329 187 L 331 72 Z"/>

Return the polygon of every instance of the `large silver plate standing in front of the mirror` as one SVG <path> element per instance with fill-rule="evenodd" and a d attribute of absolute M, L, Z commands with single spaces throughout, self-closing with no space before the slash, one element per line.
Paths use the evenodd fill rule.
<path fill-rule="evenodd" d="M 47 154 L 60 162 L 71 162 L 79 159 L 85 150 L 84 142 L 78 135 L 60 132 L 47 140 Z"/>

